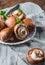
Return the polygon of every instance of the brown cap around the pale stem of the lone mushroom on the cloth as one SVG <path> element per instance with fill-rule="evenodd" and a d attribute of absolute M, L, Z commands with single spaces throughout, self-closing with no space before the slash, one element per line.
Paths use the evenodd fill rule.
<path fill-rule="evenodd" d="M 31 49 L 31 50 L 29 50 L 29 51 L 27 52 L 27 55 L 26 55 L 27 61 L 28 61 L 29 63 L 31 63 L 31 64 L 36 64 L 36 63 L 41 63 L 41 62 L 43 62 L 43 61 L 44 61 L 44 56 L 41 57 L 41 58 L 39 58 L 38 60 L 34 60 L 34 59 L 31 58 L 30 55 L 32 54 L 32 52 L 33 52 L 34 50 L 41 50 L 42 53 L 43 53 L 43 55 L 44 55 L 44 52 L 43 52 L 42 49 L 40 49 L 40 48 L 33 48 L 33 49 Z"/>

